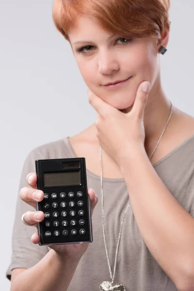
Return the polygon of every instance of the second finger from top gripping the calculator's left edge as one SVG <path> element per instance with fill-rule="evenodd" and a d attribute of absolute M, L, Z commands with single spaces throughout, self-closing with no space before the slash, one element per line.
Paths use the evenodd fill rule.
<path fill-rule="evenodd" d="M 36 209 L 36 202 L 40 202 L 44 199 L 44 193 L 41 190 L 34 190 L 30 187 L 23 187 L 19 192 L 19 197 L 34 209 Z"/>

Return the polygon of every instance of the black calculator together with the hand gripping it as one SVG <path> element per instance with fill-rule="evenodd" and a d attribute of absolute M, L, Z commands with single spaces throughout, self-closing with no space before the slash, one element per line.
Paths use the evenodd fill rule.
<path fill-rule="evenodd" d="M 32 242 L 49 245 L 68 256 L 81 250 L 83 253 L 88 243 L 82 242 L 93 240 L 91 216 L 98 201 L 94 190 L 87 189 L 85 159 L 39 160 L 36 173 L 30 174 L 27 180 L 32 177 L 28 180 L 31 187 L 22 188 L 20 198 L 37 210 L 27 211 L 24 216 L 29 226 L 38 229 Z M 37 189 L 41 195 L 35 199 L 33 193 Z M 39 220 L 34 218 L 36 212 L 40 214 Z"/>

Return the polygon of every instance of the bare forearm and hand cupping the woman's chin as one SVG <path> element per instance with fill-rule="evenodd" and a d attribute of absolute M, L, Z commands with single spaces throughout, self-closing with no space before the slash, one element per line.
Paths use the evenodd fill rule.
<path fill-rule="evenodd" d="M 126 114 L 88 89 L 89 102 L 97 110 L 97 138 L 121 169 L 150 253 L 178 291 L 194 291 L 194 218 L 169 192 L 147 157 L 144 111 L 150 84 L 143 84 L 147 85 L 139 85 Z"/>

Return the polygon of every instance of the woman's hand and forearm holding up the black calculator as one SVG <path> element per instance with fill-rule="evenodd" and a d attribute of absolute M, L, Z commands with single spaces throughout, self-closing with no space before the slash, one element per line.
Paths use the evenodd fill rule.
<path fill-rule="evenodd" d="M 30 176 L 31 180 L 28 179 Z M 35 173 L 28 174 L 26 179 L 32 188 L 23 187 L 19 193 L 20 198 L 34 209 L 36 202 L 44 199 L 44 193 L 37 190 L 36 178 Z M 40 194 L 39 198 L 35 199 L 34 191 Z M 88 189 L 88 195 L 93 214 L 98 199 L 93 189 Z M 40 215 L 38 220 L 34 216 L 35 213 Z M 37 222 L 43 221 L 44 218 L 42 211 L 29 210 L 24 215 L 24 220 L 29 224 L 27 227 L 36 227 Z M 34 244 L 38 243 L 37 230 L 32 234 L 31 241 Z M 19 274 L 19 269 L 16 269 L 17 275 L 11 282 L 11 291 L 66 291 L 87 247 L 88 243 L 51 245 L 49 252 L 37 264 Z"/>

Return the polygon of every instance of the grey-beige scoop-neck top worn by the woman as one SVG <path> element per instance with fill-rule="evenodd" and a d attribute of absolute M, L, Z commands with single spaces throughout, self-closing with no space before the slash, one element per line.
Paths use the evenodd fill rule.
<path fill-rule="evenodd" d="M 76 155 L 67 137 L 33 149 L 24 162 L 19 190 L 29 186 L 26 176 L 30 172 L 35 172 L 35 160 L 71 157 Z M 194 216 L 194 135 L 156 162 L 153 167 L 171 194 Z M 92 218 L 94 241 L 89 244 L 82 256 L 68 291 L 97 291 L 103 281 L 111 281 L 103 241 L 100 177 L 87 170 L 87 183 L 88 188 L 93 188 L 99 197 Z M 113 270 L 120 223 L 129 201 L 125 180 L 103 178 L 103 193 L 107 243 Z M 17 194 L 12 256 L 6 272 L 8 279 L 11 278 L 12 269 L 30 268 L 49 251 L 48 246 L 39 246 L 31 242 L 34 227 L 26 226 L 21 221 L 22 214 L 27 210 L 34 209 L 23 202 Z M 123 226 L 114 282 L 123 283 L 126 291 L 177 290 L 146 247 L 131 206 Z"/>

